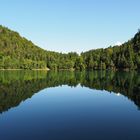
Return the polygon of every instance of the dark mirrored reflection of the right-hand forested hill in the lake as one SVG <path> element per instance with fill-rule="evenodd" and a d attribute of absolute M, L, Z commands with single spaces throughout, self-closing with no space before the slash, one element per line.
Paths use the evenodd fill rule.
<path fill-rule="evenodd" d="M 94 71 L 88 72 L 83 86 L 120 93 L 140 107 L 140 74 L 133 72 Z"/>

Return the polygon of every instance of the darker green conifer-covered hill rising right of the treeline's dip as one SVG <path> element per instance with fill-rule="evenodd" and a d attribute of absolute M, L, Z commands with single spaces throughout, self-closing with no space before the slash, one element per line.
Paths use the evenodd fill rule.
<path fill-rule="evenodd" d="M 121 46 L 91 50 L 81 54 L 86 69 L 140 68 L 140 32 Z"/>

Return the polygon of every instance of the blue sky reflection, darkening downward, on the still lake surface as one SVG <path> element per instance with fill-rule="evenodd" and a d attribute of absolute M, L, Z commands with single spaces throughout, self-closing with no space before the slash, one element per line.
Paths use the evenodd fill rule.
<path fill-rule="evenodd" d="M 49 140 L 139 139 L 140 112 L 113 92 L 47 88 L 0 115 L 1 137 Z"/>

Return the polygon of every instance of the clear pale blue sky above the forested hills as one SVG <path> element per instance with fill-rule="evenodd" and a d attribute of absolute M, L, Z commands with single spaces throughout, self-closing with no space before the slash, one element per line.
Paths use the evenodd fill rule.
<path fill-rule="evenodd" d="M 0 24 L 46 50 L 81 52 L 133 37 L 140 0 L 0 0 Z"/>

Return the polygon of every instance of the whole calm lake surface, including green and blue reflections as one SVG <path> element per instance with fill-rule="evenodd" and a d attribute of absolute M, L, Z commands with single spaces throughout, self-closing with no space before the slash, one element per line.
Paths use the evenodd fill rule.
<path fill-rule="evenodd" d="M 0 72 L 0 140 L 139 140 L 138 72 Z"/>

